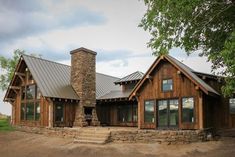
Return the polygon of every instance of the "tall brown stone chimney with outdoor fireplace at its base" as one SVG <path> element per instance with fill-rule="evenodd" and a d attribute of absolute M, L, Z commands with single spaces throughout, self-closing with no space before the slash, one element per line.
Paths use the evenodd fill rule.
<path fill-rule="evenodd" d="M 71 54 L 71 85 L 79 96 L 74 126 L 99 125 L 96 114 L 96 52 L 78 48 Z M 89 113 L 88 113 L 89 112 Z M 88 118 L 87 118 L 88 117 Z M 88 123 L 90 122 L 90 123 Z"/>

